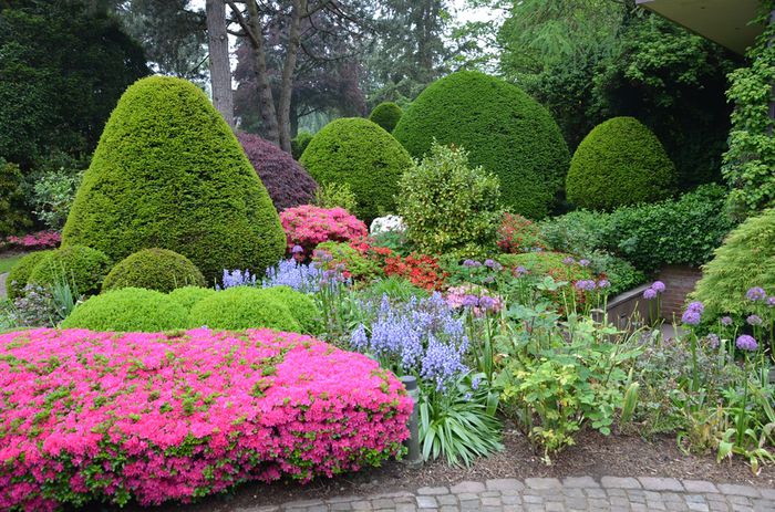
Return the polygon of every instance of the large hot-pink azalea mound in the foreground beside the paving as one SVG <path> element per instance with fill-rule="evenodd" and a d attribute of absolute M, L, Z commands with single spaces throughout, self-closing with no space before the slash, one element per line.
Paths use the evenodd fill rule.
<path fill-rule="evenodd" d="M 0 335 L 0 510 L 189 501 L 399 454 L 412 401 L 362 355 L 300 334 Z"/>

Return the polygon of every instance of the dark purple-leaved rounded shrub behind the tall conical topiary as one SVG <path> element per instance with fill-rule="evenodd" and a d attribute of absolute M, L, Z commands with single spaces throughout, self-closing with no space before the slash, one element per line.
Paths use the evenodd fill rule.
<path fill-rule="evenodd" d="M 307 205 L 318 184 L 289 154 L 254 134 L 237 134 L 254 169 L 267 187 L 277 211 Z"/>

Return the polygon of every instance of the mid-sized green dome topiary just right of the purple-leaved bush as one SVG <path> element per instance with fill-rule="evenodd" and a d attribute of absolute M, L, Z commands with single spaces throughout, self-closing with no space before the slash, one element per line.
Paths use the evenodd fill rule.
<path fill-rule="evenodd" d="M 362 117 L 332 121 L 301 155 L 301 165 L 319 184 L 349 184 L 366 222 L 392 211 L 399 178 L 412 158 L 388 132 Z"/>

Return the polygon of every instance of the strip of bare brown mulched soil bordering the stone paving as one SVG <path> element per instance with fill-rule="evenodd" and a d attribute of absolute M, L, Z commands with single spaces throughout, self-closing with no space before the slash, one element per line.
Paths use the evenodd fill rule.
<path fill-rule="evenodd" d="M 207 498 L 193 505 L 163 505 L 153 512 L 227 512 L 238 508 L 280 504 L 296 500 L 319 500 L 337 495 L 369 495 L 413 491 L 421 487 L 451 485 L 462 480 L 530 477 L 674 477 L 765 488 L 775 487 L 775 468 L 760 476 L 737 458 L 719 464 L 713 454 L 682 453 L 674 437 L 644 440 L 637 436 L 602 436 L 595 431 L 579 435 L 577 445 L 566 449 L 546 466 L 527 439 L 515 429 L 504 432 L 505 450 L 479 459 L 471 468 L 450 468 L 442 461 L 412 470 L 400 462 L 334 479 L 316 480 L 307 485 L 293 482 L 246 483 L 228 494 Z M 95 509 L 99 510 L 99 509 Z M 126 509 L 125 509 L 126 510 Z M 143 510 L 132 505 L 130 511 Z"/>

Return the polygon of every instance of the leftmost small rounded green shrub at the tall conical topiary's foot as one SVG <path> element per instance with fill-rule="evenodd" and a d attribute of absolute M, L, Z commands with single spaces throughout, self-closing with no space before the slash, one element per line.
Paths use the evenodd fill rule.
<path fill-rule="evenodd" d="M 28 282 L 50 286 L 66 281 L 79 295 L 93 295 L 100 292 L 110 269 L 111 259 L 104 252 L 85 245 L 68 245 L 43 258 L 32 269 Z"/>

